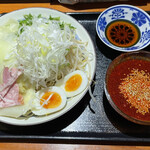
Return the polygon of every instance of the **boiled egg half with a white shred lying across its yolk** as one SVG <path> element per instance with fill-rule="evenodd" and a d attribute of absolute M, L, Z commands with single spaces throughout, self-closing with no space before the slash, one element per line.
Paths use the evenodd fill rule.
<path fill-rule="evenodd" d="M 36 93 L 36 98 L 32 102 L 32 112 L 35 115 L 48 115 L 63 109 L 66 105 L 65 92 L 52 86 Z"/>

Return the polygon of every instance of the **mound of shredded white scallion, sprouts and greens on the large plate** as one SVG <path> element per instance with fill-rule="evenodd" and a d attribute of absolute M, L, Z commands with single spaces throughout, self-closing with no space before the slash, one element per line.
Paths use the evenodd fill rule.
<path fill-rule="evenodd" d="M 17 66 L 36 87 L 47 87 L 74 70 L 85 70 L 89 61 L 86 42 L 76 29 L 59 17 L 25 15 L 19 22 Z"/>

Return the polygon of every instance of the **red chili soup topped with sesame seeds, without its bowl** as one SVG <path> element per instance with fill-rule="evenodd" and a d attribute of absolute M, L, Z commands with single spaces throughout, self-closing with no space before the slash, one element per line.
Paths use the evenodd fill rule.
<path fill-rule="evenodd" d="M 122 92 L 120 87 L 125 87 Z M 132 59 L 117 65 L 108 78 L 108 92 L 122 112 L 138 120 L 150 121 L 150 61 Z"/>

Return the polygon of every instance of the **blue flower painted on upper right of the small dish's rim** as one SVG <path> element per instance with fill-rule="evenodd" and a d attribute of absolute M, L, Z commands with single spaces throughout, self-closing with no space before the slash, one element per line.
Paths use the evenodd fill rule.
<path fill-rule="evenodd" d="M 138 25 L 138 26 L 140 26 L 140 27 L 141 27 L 143 24 L 146 23 L 146 18 L 145 18 L 145 16 L 144 16 L 142 13 L 140 13 L 140 12 L 133 13 L 131 20 L 132 20 L 136 25 Z"/>

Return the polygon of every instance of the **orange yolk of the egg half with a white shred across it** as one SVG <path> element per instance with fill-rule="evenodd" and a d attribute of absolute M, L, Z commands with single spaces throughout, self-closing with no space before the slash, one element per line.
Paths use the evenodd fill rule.
<path fill-rule="evenodd" d="M 52 97 L 50 98 L 50 100 L 48 100 L 49 96 L 52 95 Z M 43 103 L 48 100 L 48 102 L 46 104 L 43 105 Z M 61 96 L 56 93 L 56 92 L 46 92 L 41 100 L 40 100 L 40 104 L 43 105 L 44 108 L 49 109 L 49 108 L 56 108 L 61 104 Z"/>

